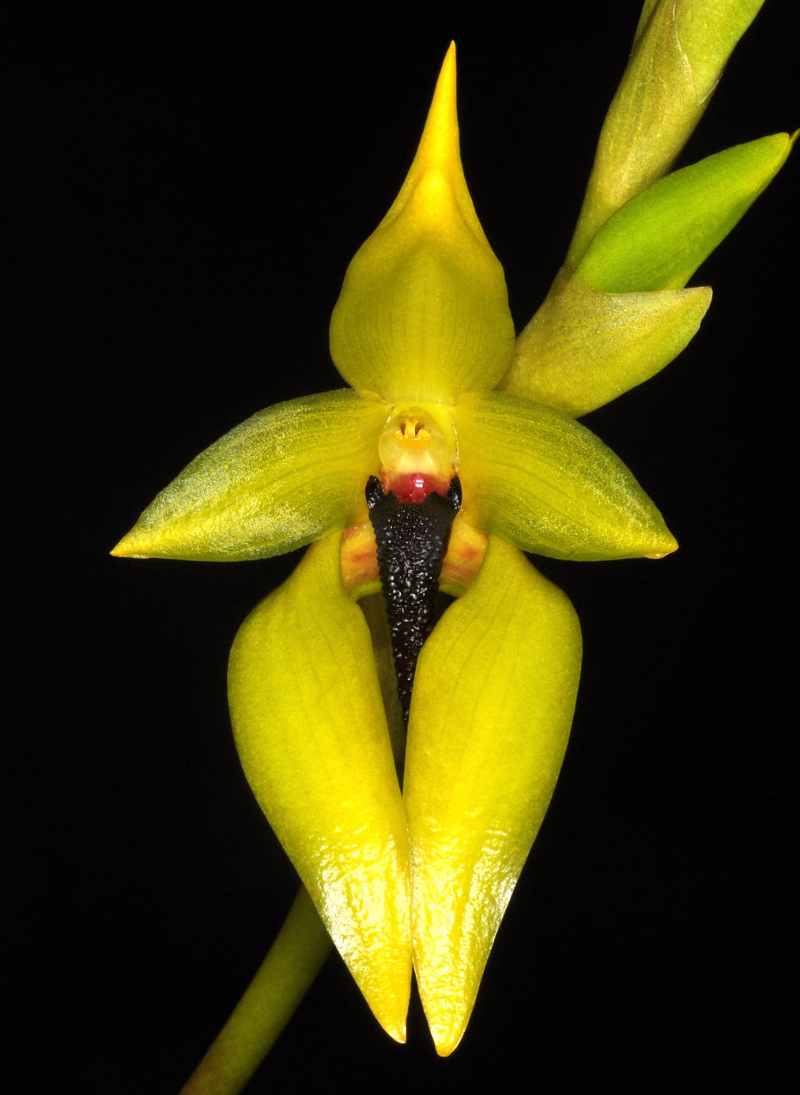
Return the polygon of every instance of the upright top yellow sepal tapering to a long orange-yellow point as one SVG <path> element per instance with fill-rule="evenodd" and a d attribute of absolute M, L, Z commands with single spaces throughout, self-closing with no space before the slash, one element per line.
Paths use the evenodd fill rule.
<path fill-rule="evenodd" d="M 494 388 L 513 338 L 502 267 L 461 166 L 451 46 L 408 176 L 347 270 L 331 355 L 348 383 L 387 402 L 448 403 Z"/>

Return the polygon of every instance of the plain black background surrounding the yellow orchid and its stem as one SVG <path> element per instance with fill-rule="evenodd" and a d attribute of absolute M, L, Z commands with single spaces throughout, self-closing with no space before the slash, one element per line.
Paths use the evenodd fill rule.
<path fill-rule="evenodd" d="M 279 926 L 293 875 L 239 769 L 224 669 L 295 560 L 107 552 L 227 429 L 339 385 L 331 309 L 451 37 L 467 181 L 527 321 L 638 3 L 545 9 L 56 4 L 20 27 L 9 1092 L 174 1095 Z M 767 2 L 686 162 L 797 124 L 792 18 Z M 790 164 L 696 276 L 716 296 L 692 346 L 587 419 L 681 550 L 543 563 L 580 614 L 583 682 L 462 1046 L 437 1059 L 416 1004 L 395 1046 L 335 959 L 254 1093 L 704 1092 L 751 1070 L 790 1090 L 796 187 Z"/>

